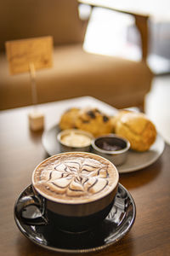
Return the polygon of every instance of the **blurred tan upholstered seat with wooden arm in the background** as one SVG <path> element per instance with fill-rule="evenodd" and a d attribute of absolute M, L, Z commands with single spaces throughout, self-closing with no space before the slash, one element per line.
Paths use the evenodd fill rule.
<path fill-rule="evenodd" d="M 143 105 L 153 77 L 145 56 L 137 62 L 85 52 L 82 42 L 86 20 L 80 20 L 77 8 L 76 0 L 3 1 L 0 9 L 3 20 L 0 22 L 1 110 L 32 103 L 30 75 L 9 74 L 4 42 L 47 35 L 54 38 L 54 67 L 37 71 L 38 103 L 95 96 L 116 108 Z"/>

